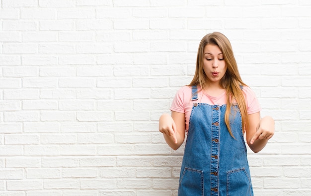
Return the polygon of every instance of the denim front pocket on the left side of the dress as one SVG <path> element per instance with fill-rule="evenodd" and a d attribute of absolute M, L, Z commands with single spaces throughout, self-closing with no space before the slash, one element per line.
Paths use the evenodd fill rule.
<path fill-rule="evenodd" d="M 203 196 L 203 171 L 185 168 L 179 180 L 178 196 Z"/>

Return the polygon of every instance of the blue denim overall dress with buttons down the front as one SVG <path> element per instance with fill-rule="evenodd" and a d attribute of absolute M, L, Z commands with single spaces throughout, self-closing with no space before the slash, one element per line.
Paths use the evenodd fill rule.
<path fill-rule="evenodd" d="M 192 87 L 192 101 L 198 100 Z M 178 196 L 253 196 L 241 115 L 231 108 L 230 135 L 226 105 L 193 103 Z"/>

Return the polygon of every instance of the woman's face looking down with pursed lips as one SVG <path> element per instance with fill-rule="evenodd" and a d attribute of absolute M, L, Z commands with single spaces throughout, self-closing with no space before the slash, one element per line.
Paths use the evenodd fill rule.
<path fill-rule="evenodd" d="M 224 55 L 214 44 L 204 47 L 203 70 L 210 83 L 219 84 L 227 71 Z"/>

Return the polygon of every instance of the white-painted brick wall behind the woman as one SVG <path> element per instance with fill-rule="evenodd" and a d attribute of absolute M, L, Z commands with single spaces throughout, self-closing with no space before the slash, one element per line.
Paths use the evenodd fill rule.
<path fill-rule="evenodd" d="M 221 31 L 276 119 L 255 195 L 309 196 L 310 2 L 0 0 L 0 195 L 176 196 L 157 120 Z"/>

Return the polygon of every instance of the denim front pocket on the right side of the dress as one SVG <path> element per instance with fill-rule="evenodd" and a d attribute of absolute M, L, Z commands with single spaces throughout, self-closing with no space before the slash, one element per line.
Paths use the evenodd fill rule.
<path fill-rule="evenodd" d="M 244 168 L 227 172 L 227 196 L 252 196 L 250 177 Z"/>

